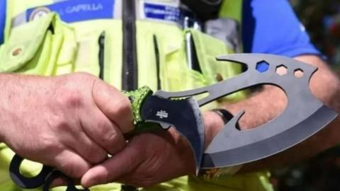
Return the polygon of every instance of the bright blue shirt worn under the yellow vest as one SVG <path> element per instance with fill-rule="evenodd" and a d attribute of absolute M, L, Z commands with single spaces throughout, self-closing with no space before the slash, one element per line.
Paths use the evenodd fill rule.
<path fill-rule="evenodd" d="M 242 18 L 244 52 L 287 57 L 319 54 L 288 0 L 244 0 Z M 6 0 L 0 0 L 0 44 L 4 40 L 5 19 Z"/>

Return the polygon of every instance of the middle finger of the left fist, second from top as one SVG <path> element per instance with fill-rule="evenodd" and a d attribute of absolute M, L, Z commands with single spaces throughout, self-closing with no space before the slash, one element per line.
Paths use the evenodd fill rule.
<path fill-rule="evenodd" d="M 94 140 L 98 146 L 101 146 L 101 148 L 111 155 L 117 154 L 125 147 L 126 141 L 123 133 L 113 122 L 103 115 L 101 110 L 94 108 L 90 114 L 86 113 L 85 115 L 91 117 L 81 117 L 84 132 Z"/>

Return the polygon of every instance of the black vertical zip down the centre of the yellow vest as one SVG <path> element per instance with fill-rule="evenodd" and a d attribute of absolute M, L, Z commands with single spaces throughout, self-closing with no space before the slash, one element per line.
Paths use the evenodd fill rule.
<path fill-rule="evenodd" d="M 138 88 L 135 0 L 123 0 L 123 75 L 122 89 Z"/>

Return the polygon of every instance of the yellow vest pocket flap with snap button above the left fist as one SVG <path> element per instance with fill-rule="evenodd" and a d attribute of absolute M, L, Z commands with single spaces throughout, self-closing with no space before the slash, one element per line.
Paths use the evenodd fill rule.
<path fill-rule="evenodd" d="M 70 59 L 67 56 L 58 57 L 72 42 L 64 40 L 65 30 L 71 29 L 65 27 L 55 13 L 13 28 L 0 52 L 0 72 L 44 76 L 65 73 L 57 69 L 58 62 L 62 66 L 72 63 L 72 56 Z M 72 54 L 72 51 L 68 52 Z M 68 73 L 71 69 L 72 66 Z"/>

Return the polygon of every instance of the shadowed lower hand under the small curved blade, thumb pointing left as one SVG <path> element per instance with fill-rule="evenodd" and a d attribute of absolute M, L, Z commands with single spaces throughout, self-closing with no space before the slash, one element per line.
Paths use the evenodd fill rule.
<path fill-rule="evenodd" d="M 203 114 L 205 146 L 223 126 L 215 112 Z M 137 187 L 150 187 L 182 175 L 196 172 L 193 151 L 188 141 L 175 129 L 133 137 L 128 145 L 104 163 L 91 168 L 81 185 L 91 187 L 118 182 Z"/>

